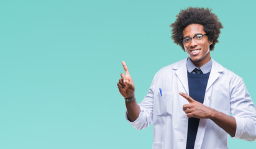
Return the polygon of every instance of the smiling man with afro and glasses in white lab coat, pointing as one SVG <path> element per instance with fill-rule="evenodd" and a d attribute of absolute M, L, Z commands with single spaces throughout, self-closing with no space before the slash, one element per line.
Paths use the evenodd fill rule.
<path fill-rule="evenodd" d="M 117 86 L 126 119 L 136 129 L 153 124 L 153 148 L 227 148 L 233 138 L 256 139 L 256 110 L 244 81 L 210 56 L 222 24 L 211 10 L 188 7 L 171 24 L 188 58 L 156 73 L 138 105 L 126 63 Z M 232 114 L 232 116 L 230 116 Z"/>

